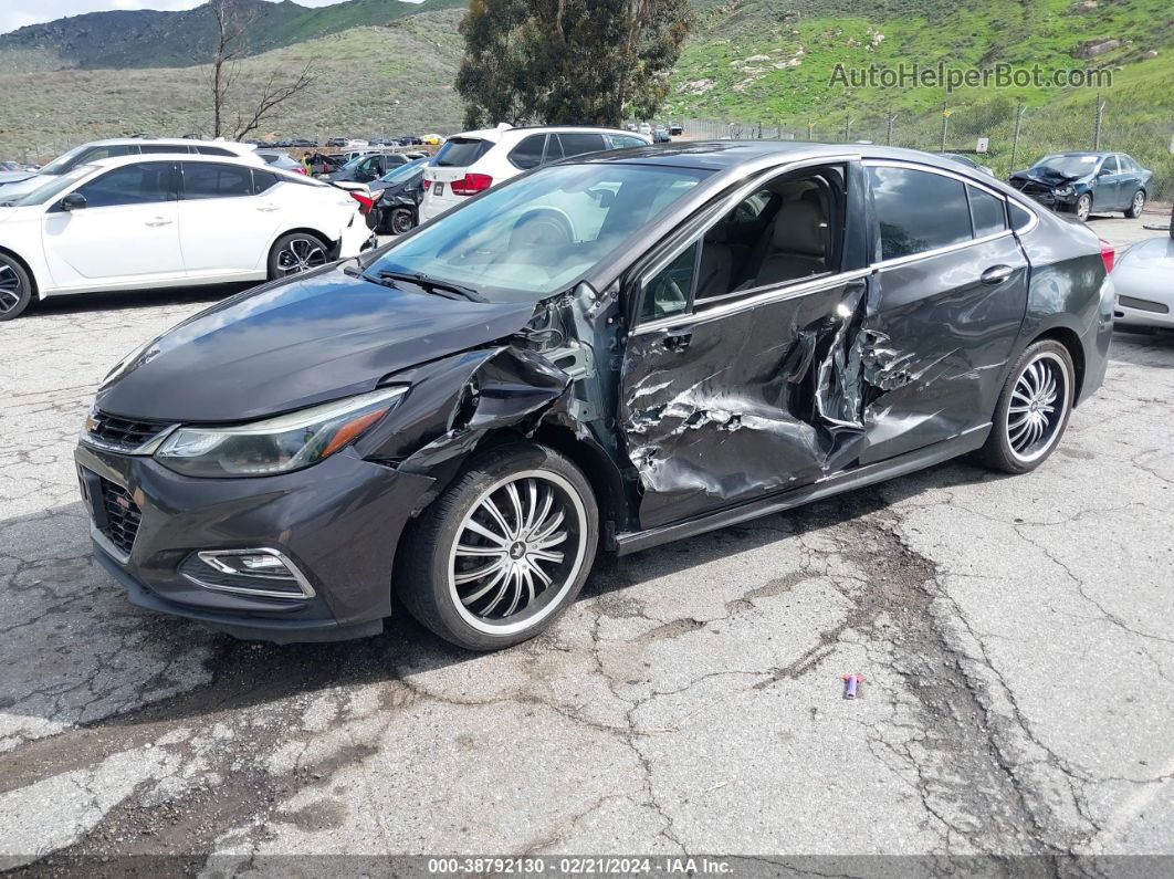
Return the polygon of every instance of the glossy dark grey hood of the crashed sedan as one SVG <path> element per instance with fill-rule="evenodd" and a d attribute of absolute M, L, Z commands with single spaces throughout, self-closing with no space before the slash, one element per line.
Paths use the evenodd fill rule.
<path fill-rule="evenodd" d="M 227 299 L 168 330 L 97 394 L 104 412 L 248 421 L 362 393 L 385 376 L 521 330 L 534 304 L 375 284 L 343 263 Z"/>

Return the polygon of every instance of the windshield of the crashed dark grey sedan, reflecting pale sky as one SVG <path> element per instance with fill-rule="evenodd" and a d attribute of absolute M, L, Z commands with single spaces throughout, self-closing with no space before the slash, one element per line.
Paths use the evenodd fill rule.
<path fill-rule="evenodd" d="M 571 286 L 707 176 L 626 163 L 553 165 L 393 244 L 365 273 L 419 273 L 492 302 L 537 302 Z"/>

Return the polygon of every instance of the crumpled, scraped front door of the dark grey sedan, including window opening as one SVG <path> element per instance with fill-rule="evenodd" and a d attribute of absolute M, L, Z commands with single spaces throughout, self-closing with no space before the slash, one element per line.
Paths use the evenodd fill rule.
<path fill-rule="evenodd" d="M 845 171 L 750 184 L 633 280 L 619 414 L 643 528 L 812 482 L 859 440 Z"/>

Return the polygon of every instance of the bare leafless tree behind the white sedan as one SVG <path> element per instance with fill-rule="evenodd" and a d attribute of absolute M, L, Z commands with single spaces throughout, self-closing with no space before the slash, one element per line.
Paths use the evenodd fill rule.
<path fill-rule="evenodd" d="M 237 0 L 210 0 L 208 8 L 216 22 L 216 45 L 208 86 L 212 93 L 212 137 L 225 136 L 228 124 L 229 95 L 241 79 L 241 59 L 248 54 L 248 33 L 257 23 L 256 11 L 241 8 Z M 278 82 L 277 74 L 270 75 L 250 110 L 236 110 L 232 140 L 241 140 L 257 130 L 281 104 L 313 86 L 311 65 L 306 65 L 297 79 Z"/>

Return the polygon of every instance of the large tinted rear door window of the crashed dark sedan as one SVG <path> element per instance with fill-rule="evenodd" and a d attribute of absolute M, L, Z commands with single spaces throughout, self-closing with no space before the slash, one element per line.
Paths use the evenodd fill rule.
<path fill-rule="evenodd" d="M 924 253 L 971 239 L 966 185 L 911 168 L 870 167 L 880 259 Z"/>

